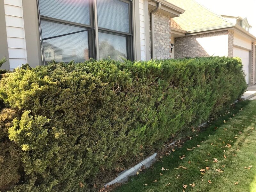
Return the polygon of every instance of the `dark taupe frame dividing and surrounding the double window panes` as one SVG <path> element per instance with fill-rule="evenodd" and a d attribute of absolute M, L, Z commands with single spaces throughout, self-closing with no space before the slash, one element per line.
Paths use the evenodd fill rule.
<path fill-rule="evenodd" d="M 81 27 L 84 29 L 88 29 L 88 46 L 89 46 L 89 56 L 90 58 L 97 59 L 99 58 L 99 47 L 96 44 L 96 37 L 98 38 L 99 32 L 114 34 L 114 35 L 121 35 L 126 37 L 126 49 L 127 49 L 127 59 L 133 60 L 134 59 L 134 47 L 133 47 L 133 9 L 132 4 L 134 3 L 133 0 L 119 0 L 129 4 L 129 33 L 100 28 L 99 26 L 95 26 L 95 23 L 98 25 L 98 18 L 95 16 L 95 8 L 97 13 L 97 0 L 89 0 L 90 4 L 90 25 L 76 23 L 67 20 L 56 19 L 48 16 L 40 15 L 40 8 L 39 8 L 39 1 L 37 0 L 37 14 L 38 14 L 38 22 L 39 22 L 39 32 L 40 32 L 40 44 L 41 44 L 41 54 L 43 55 L 43 65 L 46 65 L 45 61 L 45 54 L 44 54 L 44 45 L 43 45 L 43 36 L 42 36 L 42 27 L 41 27 L 41 20 L 47 20 L 55 23 Z M 96 20 L 97 19 L 97 20 Z M 97 34 L 96 34 L 97 33 Z M 97 39 L 99 41 L 99 39 Z"/>

